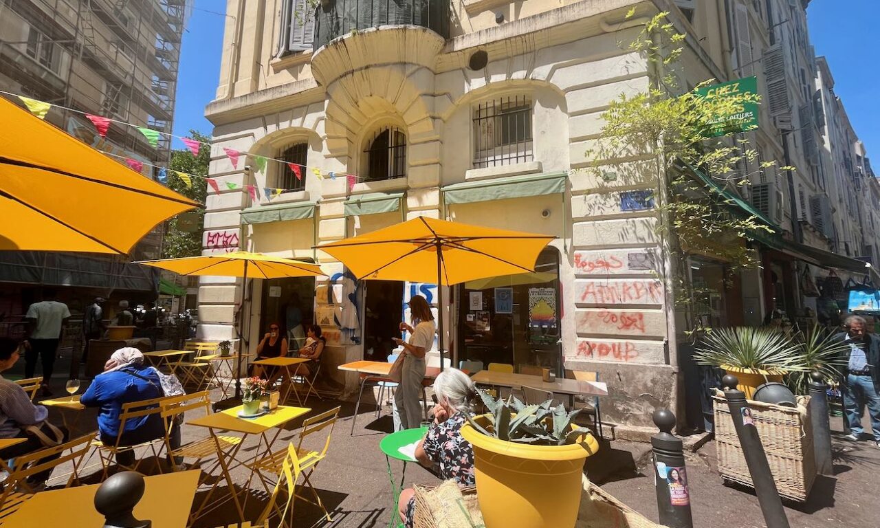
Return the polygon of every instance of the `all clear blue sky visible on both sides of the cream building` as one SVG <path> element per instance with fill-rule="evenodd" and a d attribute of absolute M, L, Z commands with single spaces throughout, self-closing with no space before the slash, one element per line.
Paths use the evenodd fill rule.
<path fill-rule="evenodd" d="M 841 5 L 846 5 L 846 9 Z M 174 134 L 186 136 L 190 128 L 210 135 L 205 105 L 216 93 L 220 76 L 225 0 L 195 0 L 183 36 Z M 203 11 L 205 10 L 205 11 Z M 810 40 L 817 55 L 825 55 L 834 76 L 834 91 L 843 99 L 856 134 L 876 159 L 880 169 L 880 50 L 873 36 L 880 20 L 878 0 L 812 0 L 807 10 Z M 177 143 L 177 142 L 175 142 Z M 182 145 L 177 144 L 178 148 Z"/>

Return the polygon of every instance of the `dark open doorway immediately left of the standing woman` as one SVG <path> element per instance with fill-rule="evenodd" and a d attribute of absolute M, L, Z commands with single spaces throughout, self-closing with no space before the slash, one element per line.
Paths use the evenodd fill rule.
<path fill-rule="evenodd" d="M 397 345 L 392 338 L 400 337 L 403 320 L 403 282 L 366 281 L 363 304 L 363 358 L 387 361 Z"/>

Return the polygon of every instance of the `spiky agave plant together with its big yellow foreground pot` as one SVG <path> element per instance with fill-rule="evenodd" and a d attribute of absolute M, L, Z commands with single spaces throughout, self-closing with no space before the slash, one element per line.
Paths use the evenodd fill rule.
<path fill-rule="evenodd" d="M 578 411 L 480 398 L 487 414 L 468 416 L 461 435 L 473 446 L 477 499 L 487 528 L 574 526 L 584 460 L 598 451 Z"/>

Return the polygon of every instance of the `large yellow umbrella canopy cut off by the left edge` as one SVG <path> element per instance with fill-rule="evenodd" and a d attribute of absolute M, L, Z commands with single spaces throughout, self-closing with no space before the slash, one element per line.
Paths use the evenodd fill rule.
<path fill-rule="evenodd" d="M 128 253 L 199 204 L 0 98 L 0 250 Z"/>

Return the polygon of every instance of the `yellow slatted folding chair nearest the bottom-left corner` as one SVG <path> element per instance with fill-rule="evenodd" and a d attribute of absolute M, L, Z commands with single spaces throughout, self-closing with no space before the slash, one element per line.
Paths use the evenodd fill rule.
<path fill-rule="evenodd" d="M 98 433 L 79 436 L 70 442 L 32 451 L 15 458 L 12 467 L 4 464 L 4 469 L 11 470 L 3 483 L 3 494 L 0 495 L 0 524 L 4 523 L 4 517 L 15 513 L 35 491 L 27 484 L 27 478 L 67 462 L 73 465 L 73 472 L 64 488 L 70 488 L 74 482 L 79 483 L 79 467 L 83 463 L 85 454 L 89 451 L 89 445 Z M 64 451 L 70 451 L 64 454 Z M 46 458 L 55 457 L 50 460 Z"/>

